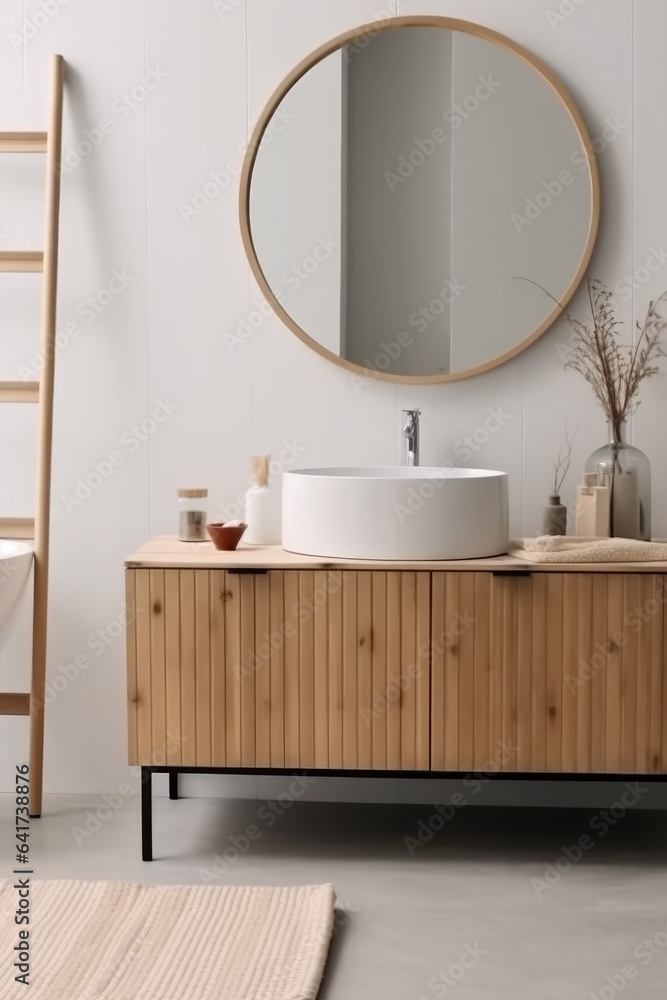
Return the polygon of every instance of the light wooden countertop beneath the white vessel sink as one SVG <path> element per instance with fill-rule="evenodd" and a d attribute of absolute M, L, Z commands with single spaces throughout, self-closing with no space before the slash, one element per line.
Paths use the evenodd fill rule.
<path fill-rule="evenodd" d="M 158 535 L 125 560 L 129 569 L 275 569 L 275 570 L 422 570 L 460 572 L 537 573 L 667 573 L 667 562 L 618 563 L 533 563 L 517 556 L 491 559 L 451 559 L 428 561 L 324 559 L 286 552 L 280 545 L 248 545 L 243 541 L 236 552 L 218 552 L 212 542 L 179 542 L 173 535 Z"/>

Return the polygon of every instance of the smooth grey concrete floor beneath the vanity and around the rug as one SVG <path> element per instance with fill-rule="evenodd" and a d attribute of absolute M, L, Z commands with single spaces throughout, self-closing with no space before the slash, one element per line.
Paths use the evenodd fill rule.
<path fill-rule="evenodd" d="M 7 852 L 9 796 L 0 809 Z M 106 809 L 101 796 L 55 795 L 33 821 L 33 864 L 41 878 L 333 882 L 338 926 L 320 1000 L 665 995 L 664 813 L 630 811 L 610 826 L 597 810 L 475 806 L 423 846 L 410 841 L 411 856 L 404 838 L 430 819 L 441 825 L 429 806 L 297 801 L 278 816 L 257 801 L 156 796 L 156 860 L 144 864 L 136 793 Z M 586 850 L 573 864 L 577 842 Z"/>

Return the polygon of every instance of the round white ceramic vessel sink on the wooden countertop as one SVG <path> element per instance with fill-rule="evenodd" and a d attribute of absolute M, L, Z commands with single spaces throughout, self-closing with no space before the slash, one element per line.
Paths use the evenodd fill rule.
<path fill-rule="evenodd" d="M 283 547 L 340 559 L 475 559 L 509 545 L 504 472 L 301 469 L 283 476 Z"/>

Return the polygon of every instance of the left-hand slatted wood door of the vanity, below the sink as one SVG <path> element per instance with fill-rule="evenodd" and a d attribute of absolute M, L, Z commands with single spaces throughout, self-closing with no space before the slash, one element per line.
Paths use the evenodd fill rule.
<path fill-rule="evenodd" d="M 126 582 L 130 763 L 428 769 L 429 573 Z"/>

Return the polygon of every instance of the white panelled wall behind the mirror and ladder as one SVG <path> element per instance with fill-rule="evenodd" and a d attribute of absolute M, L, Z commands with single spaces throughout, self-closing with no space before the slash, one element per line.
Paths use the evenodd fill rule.
<path fill-rule="evenodd" d="M 620 313 L 630 324 L 667 286 L 664 263 L 653 273 L 647 269 L 652 247 L 667 243 L 661 127 L 667 5 L 584 0 L 552 27 L 547 13 L 559 2 L 402 0 L 401 13 L 460 16 L 512 35 L 559 72 L 594 135 L 602 134 L 606 119 L 618 121 L 620 134 L 599 161 L 604 207 L 591 273 L 621 282 Z M 2 127 L 43 124 L 53 51 L 69 63 L 66 145 L 101 119 L 113 124 L 63 177 L 59 327 L 78 320 L 80 332 L 58 355 L 50 680 L 77 654 L 87 653 L 90 665 L 50 705 L 46 727 L 47 789 L 99 793 L 117 788 L 127 774 L 125 680 L 123 639 L 99 647 L 95 632 L 107 638 L 117 632 L 123 557 L 149 534 L 175 530 L 179 485 L 208 485 L 218 506 L 244 491 L 250 454 L 282 451 L 285 465 L 391 464 L 398 458 L 400 411 L 416 405 L 423 413 L 424 462 L 460 461 L 466 436 L 486 437 L 479 446 L 472 441 L 479 450 L 470 464 L 510 473 L 512 531 L 530 533 L 549 492 L 565 417 L 579 424 L 575 469 L 602 440 L 604 420 L 588 387 L 561 368 L 563 323 L 520 358 L 469 381 L 360 386 L 258 310 L 237 223 L 239 150 L 292 66 L 331 36 L 372 20 L 378 0 L 219 0 L 217 9 L 209 0 L 70 0 L 15 50 L 9 33 L 20 31 L 23 8 L 22 0 L 4 0 L 0 8 Z M 26 0 L 28 18 L 40 10 Z M 122 95 L 140 84 L 147 68 L 166 75 L 145 100 L 130 98 L 135 106 L 122 111 Z M 28 195 L 39 190 L 39 170 L 15 160 L 0 163 L 0 171 L 1 245 L 37 246 L 40 217 Z M 218 174 L 218 190 L 207 188 L 205 195 L 211 173 Z M 18 183 L 18 199 L 5 183 L 9 176 Z M 193 202 L 196 213 L 183 209 Z M 80 304 L 107 285 L 114 269 L 125 269 L 132 280 L 86 322 Z M 637 287 L 630 291 L 623 283 L 633 272 Z M 31 282 L 0 276 L 0 306 L 10 319 L 0 332 L 0 378 L 30 363 L 37 317 Z M 584 311 L 583 295 L 573 309 Z M 253 313 L 257 329 L 227 346 L 224 335 L 245 329 Z M 654 528 L 663 535 L 664 386 L 664 377 L 654 380 L 633 422 L 634 441 L 652 460 Z M 175 409 L 140 441 L 132 427 L 159 401 Z M 490 434 L 480 430 L 489 410 L 502 416 L 501 428 Z M 11 495 L 0 481 L 2 514 L 18 513 L 19 493 L 31 487 L 32 431 L 25 415 L 0 424 L 0 467 L 16 453 L 19 435 L 21 448 Z M 63 494 L 72 494 L 77 480 L 115 449 L 122 451 L 122 466 L 68 511 Z M 567 499 L 574 482 L 572 475 Z M 0 660 L 3 686 L 26 683 L 26 618 L 17 619 Z M 25 758 L 26 733 L 24 720 L 0 720 L 2 787 Z M 248 794 L 265 788 L 254 779 L 220 784 Z M 380 783 L 348 781 L 331 794 L 432 801 L 436 793 L 422 785 L 387 782 L 378 791 Z M 203 783 L 204 790 L 212 787 L 213 779 Z M 587 797 L 588 786 L 579 787 Z M 505 801 L 513 794 L 509 785 L 496 792 Z M 553 801 L 555 793 L 531 786 L 521 794 Z M 558 794 L 568 801 L 575 791 Z"/>

